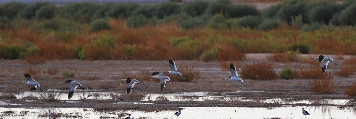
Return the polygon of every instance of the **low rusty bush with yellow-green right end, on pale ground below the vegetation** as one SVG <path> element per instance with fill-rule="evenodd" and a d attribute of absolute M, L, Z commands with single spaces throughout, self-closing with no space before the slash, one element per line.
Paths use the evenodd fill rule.
<path fill-rule="evenodd" d="M 272 62 L 296 62 L 298 61 L 297 52 L 287 51 L 284 53 L 270 53 L 267 54 L 267 59 Z"/>

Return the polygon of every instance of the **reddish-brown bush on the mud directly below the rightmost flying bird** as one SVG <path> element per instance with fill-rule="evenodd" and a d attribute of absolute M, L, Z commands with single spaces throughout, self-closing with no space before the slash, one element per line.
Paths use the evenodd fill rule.
<path fill-rule="evenodd" d="M 309 80 L 309 89 L 314 93 L 330 94 L 337 91 L 338 84 L 335 83 L 334 75 L 325 75 L 321 79 Z"/>

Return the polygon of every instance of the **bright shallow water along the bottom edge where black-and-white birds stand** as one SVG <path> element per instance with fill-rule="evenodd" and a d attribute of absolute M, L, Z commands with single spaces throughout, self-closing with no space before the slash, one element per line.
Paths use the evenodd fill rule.
<path fill-rule="evenodd" d="M 182 114 L 179 119 L 263 119 L 263 118 L 288 118 L 301 119 L 305 118 L 302 114 L 302 107 L 182 107 Z M 306 111 L 310 113 L 309 119 L 354 119 L 356 117 L 355 108 L 338 108 L 336 106 L 310 106 L 306 107 Z M 79 118 L 98 119 L 102 117 L 108 118 L 126 118 L 127 114 L 131 114 L 133 118 L 140 117 L 152 119 L 176 119 L 173 114 L 177 111 L 159 111 L 159 112 L 142 112 L 142 111 L 93 111 L 90 108 L 0 108 L 0 113 L 4 111 L 14 111 L 10 116 L 2 115 L 5 119 L 22 119 L 22 118 L 40 118 L 39 114 L 45 114 L 48 110 L 52 113 L 63 113 L 76 115 Z M 27 115 L 21 115 L 22 111 L 29 111 Z M 121 115 L 122 114 L 122 115 Z M 122 117 L 120 117 L 122 116 Z M 72 117 L 73 118 L 73 117 Z M 65 119 L 60 118 L 60 119 Z"/>

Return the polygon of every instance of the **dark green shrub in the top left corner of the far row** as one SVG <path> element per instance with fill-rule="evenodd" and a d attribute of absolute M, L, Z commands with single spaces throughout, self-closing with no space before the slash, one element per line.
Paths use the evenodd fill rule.
<path fill-rule="evenodd" d="M 22 2 L 11 1 L 3 4 L 2 8 L 2 15 L 12 19 L 15 18 L 17 13 L 19 13 L 22 9 L 26 8 L 26 4 Z"/>

